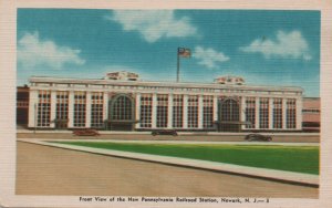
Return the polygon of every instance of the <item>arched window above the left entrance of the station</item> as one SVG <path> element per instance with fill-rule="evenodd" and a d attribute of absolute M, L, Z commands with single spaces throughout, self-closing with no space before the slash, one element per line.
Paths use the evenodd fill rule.
<path fill-rule="evenodd" d="M 133 118 L 133 106 L 132 100 L 125 95 L 115 97 L 116 100 L 113 103 L 113 119 L 126 121 Z"/>

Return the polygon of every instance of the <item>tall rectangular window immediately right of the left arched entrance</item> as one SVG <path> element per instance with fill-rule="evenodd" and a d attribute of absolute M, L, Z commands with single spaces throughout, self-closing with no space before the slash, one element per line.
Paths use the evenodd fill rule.
<path fill-rule="evenodd" d="M 151 94 L 141 95 L 141 127 L 143 128 L 152 127 L 152 102 Z"/>

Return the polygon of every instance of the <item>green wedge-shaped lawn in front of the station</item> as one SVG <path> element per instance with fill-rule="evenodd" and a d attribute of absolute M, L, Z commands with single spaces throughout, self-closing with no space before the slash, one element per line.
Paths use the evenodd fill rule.
<path fill-rule="evenodd" d="M 56 142 L 58 143 L 58 142 Z M 59 142 L 95 148 L 185 157 L 252 167 L 319 174 L 318 146 L 222 145 L 222 144 L 134 144 Z"/>

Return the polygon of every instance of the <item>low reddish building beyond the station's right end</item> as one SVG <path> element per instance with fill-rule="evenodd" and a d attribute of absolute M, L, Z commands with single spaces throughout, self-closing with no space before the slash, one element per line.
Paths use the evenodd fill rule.
<path fill-rule="evenodd" d="M 319 132 L 321 127 L 321 100 L 304 97 L 302 108 L 302 128 L 304 132 Z"/>

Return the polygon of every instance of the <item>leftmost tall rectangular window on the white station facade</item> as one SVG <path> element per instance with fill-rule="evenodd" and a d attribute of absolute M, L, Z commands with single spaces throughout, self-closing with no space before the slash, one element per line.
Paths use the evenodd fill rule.
<path fill-rule="evenodd" d="M 40 127 L 50 126 L 51 119 L 51 92 L 39 91 L 37 125 Z"/>

